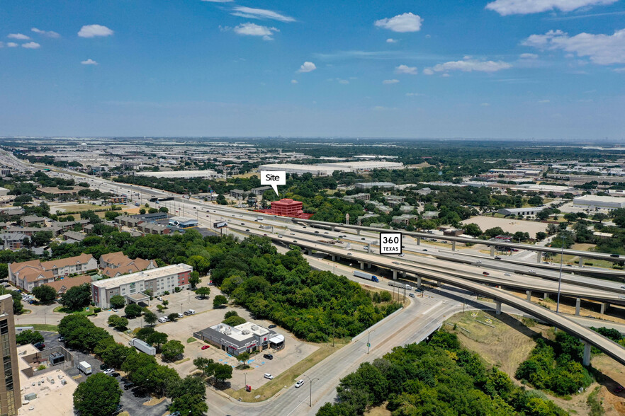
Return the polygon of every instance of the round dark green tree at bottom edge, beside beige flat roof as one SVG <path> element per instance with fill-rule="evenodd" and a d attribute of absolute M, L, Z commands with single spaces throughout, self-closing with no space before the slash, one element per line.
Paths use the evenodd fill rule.
<path fill-rule="evenodd" d="M 81 416 L 110 416 L 117 409 L 121 395 L 116 379 L 103 373 L 93 374 L 74 391 L 74 409 Z"/>

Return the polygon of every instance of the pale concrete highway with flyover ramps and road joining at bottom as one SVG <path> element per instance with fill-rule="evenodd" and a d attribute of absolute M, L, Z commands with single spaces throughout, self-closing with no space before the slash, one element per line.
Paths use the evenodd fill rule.
<path fill-rule="evenodd" d="M 8 166 L 16 168 L 28 168 L 26 163 L 19 161 L 13 155 L 3 153 L 0 161 Z M 32 166 L 32 168 L 49 168 L 48 166 Z M 332 354 L 323 362 L 315 365 L 306 372 L 310 379 L 315 380 L 312 389 L 312 408 L 308 408 L 309 389 L 308 379 L 305 379 L 306 388 L 293 388 L 293 386 L 285 386 L 278 394 L 262 403 L 239 403 L 227 395 L 222 393 L 209 391 L 207 402 L 211 409 L 211 414 L 228 414 L 228 415 L 287 415 L 287 414 L 314 414 L 323 403 L 334 398 L 334 388 L 340 378 L 354 371 L 361 362 L 369 361 L 376 357 L 389 352 L 396 345 L 404 345 L 410 342 L 419 342 L 427 337 L 430 333 L 440 327 L 442 322 L 453 315 L 457 311 L 461 311 L 465 301 L 458 299 L 471 299 L 474 293 L 480 293 L 485 297 L 497 301 L 497 308 L 501 308 L 501 304 L 508 304 L 510 307 L 503 308 L 505 312 L 527 313 L 531 316 L 551 322 L 559 328 L 567 330 L 569 333 L 580 337 L 592 345 L 596 345 L 599 349 L 609 354 L 611 357 L 625 364 L 625 350 L 614 342 L 601 337 L 592 330 L 588 330 L 583 325 L 576 323 L 574 320 L 558 315 L 546 308 L 532 304 L 524 299 L 509 294 L 509 292 L 497 289 L 495 287 L 485 286 L 481 283 L 498 284 L 502 287 L 514 287 L 515 289 L 526 289 L 539 291 L 544 293 L 556 293 L 557 282 L 555 279 L 557 273 L 552 270 L 543 270 L 536 267 L 536 262 L 502 262 L 500 260 L 492 260 L 488 255 L 480 258 L 479 255 L 465 255 L 463 253 L 444 250 L 438 246 L 427 245 L 421 242 L 417 245 L 415 241 L 409 241 L 406 238 L 405 251 L 406 255 L 402 258 L 399 256 L 382 256 L 373 253 L 366 253 L 364 244 L 368 243 L 373 250 L 373 243 L 376 235 L 371 231 L 361 230 L 361 235 L 354 233 L 355 229 L 348 229 L 339 224 L 333 224 L 338 227 L 337 231 L 330 231 L 327 227 L 322 229 L 311 229 L 310 225 L 293 224 L 291 219 L 283 219 L 264 214 L 257 214 L 237 209 L 234 207 L 220 206 L 216 204 L 208 204 L 198 200 L 183 199 L 180 195 L 174 195 L 170 192 L 154 190 L 152 188 L 140 187 L 137 185 L 125 185 L 114 183 L 102 178 L 96 178 L 81 173 L 64 171 L 62 169 L 53 168 L 50 175 L 62 175 L 72 177 L 77 176 L 89 181 L 90 185 L 100 189 L 103 192 L 113 192 L 115 194 L 125 193 L 137 202 L 145 203 L 151 197 L 176 197 L 174 201 L 161 202 L 160 204 L 168 207 L 171 213 L 197 218 L 201 226 L 212 228 L 214 222 L 228 221 L 225 229 L 226 233 L 234 233 L 236 236 L 243 237 L 250 234 L 265 235 L 276 243 L 278 250 L 286 250 L 288 245 L 298 245 L 305 249 L 310 249 L 307 259 L 311 265 L 316 268 L 326 270 L 345 270 L 347 265 L 337 262 L 328 262 L 327 260 L 317 259 L 310 256 L 312 250 L 315 252 L 324 252 L 330 255 L 340 256 L 344 260 L 351 262 L 354 267 L 359 267 L 359 262 L 364 263 L 364 267 L 368 264 L 385 267 L 388 270 L 397 270 L 398 275 L 402 272 L 407 274 L 407 279 L 422 277 L 429 281 L 449 283 L 453 287 L 443 286 L 435 289 L 436 294 L 432 297 L 416 297 L 407 298 L 407 306 L 400 311 L 377 323 L 369 330 L 369 333 L 363 333 L 354 338 L 349 345 L 339 349 L 338 352 Z M 151 203 L 152 206 L 155 204 Z M 184 210 L 184 213 L 183 213 Z M 261 221 L 258 219 L 261 218 Z M 263 227 L 262 229 L 260 227 Z M 305 228 L 304 228 L 305 227 Z M 249 230 L 249 231 L 248 231 Z M 318 231 L 318 233 L 315 233 Z M 321 243 L 320 240 L 329 241 L 338 236 L 345 236 L 341 239 L 344 243 L 327 244 Z M 445 237 L 449 239 L 448 237 Z M 349 245 L 349 250 L 347 246 Z M 427 252 L 424 251 L 427 250 Z M 350 254 L 351 253 L 351 254 Z M 338 259 L 337 259 L 338 260 Z M 459 260 L 459 262 L 458 262 Z M 316 263 L 316 265 L 315 265 Z M 519 264 L 520 263 L 520 264 Z M 578 267 L 566 267 L 573 272 Z M 351 267 L 349 267 L 351 270 Z M 488 270 L 488 276 L 483 272 Z M 533 270 L 534 272 L 530 272 Z M 565 270 L 565 271 L 569 271 Z M 584 299 L 595 299 L 597 301 L 609 302 L 611 304 L 625 304 L 619 296 L 625 294 L 625 288 L 621 282 L 611 282 L 607 280 L 593 279 L 591 277 L 582 277 L 580 275 L 572 275 L 570 272 L 563 274 L 562 294 L 572 297 L 582 297 Z M 344 273 L 345 274 L 345 273 Z M 349 273 L 347 273 L 349 274 Z M 509 274 L 510 276 L 506 276 Z M 534 276 L 531 276 L 534 275 Z M 401 278 L 401 277 L 400 277 Z M 356 281 L 360 281 L 351 277 Z M 389 289 L 387 280 L 381 279 L 379 284 L 366 282 L 378 287 Z M 414 285 L 414 283 L 411 283 Z M 461 289 L 457 289 L 461 288 Z M 475 296 L 473 296 L 473 304 L 477 307 L 489 308 L 487 304 L 475 304 Z M 366 354 L 366 339 L 371 338 L 372 347 L 369 354 Z"/>

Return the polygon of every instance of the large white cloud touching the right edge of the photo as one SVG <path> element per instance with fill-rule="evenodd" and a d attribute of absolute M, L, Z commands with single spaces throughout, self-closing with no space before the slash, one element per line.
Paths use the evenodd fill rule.
<path fill-rule="evenodd" d="M 625 29 L 616 30 L 613 35 L 580 33 L 570 37 L 562 30 L 549 30 L 544 35 L 531 35 L 522 45 L 541 50 L 563 50 L 578 57 L 589 57 L 599 65 L 625 63 Z"/>

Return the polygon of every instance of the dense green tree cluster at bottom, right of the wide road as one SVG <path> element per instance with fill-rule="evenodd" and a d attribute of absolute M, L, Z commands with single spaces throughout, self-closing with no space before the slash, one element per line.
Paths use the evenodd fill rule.
<path fill-rule="evenodd" d="M 487 369 L 458 337 L 439 331 L 429 343 L 395 347 L 361 364 L 337 387 L 338 403 L 326 403 L 317 416 L 363 415 L 387 403 L 393 415 L 563 416 L 545 395 L 527 391 L 496 367 Z"/>

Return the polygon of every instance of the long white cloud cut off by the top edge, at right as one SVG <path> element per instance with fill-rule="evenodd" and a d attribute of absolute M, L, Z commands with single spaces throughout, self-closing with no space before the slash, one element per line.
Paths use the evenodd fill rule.
<path fill-rule="evenodd" d="M 486 5 L 489 10 L 496 11 L 501 16 L 511 14 L 541 13 L 543 11 L 559 10 L 573 11 L 578 8 L 590 8 L 602 4 L 616 3 L 618 0 L 495 0 Z"/>

